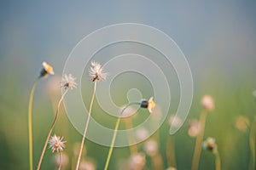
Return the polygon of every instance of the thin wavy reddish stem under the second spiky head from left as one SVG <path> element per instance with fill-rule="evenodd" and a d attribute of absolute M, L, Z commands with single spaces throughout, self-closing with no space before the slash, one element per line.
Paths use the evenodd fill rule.
<path fill-rule="evenodd" d="M 56 114 L 55 114 L 54 122 L 52 123 L 51 127 L 49 128 L 49 133 L 48 133 L 47 138 L 46 138 L 46 140 L 45 140 L 44 148 L 43 148 L 43 150 L 42 150 L 40 159 L 39 159 L 39 161 L 38 161 L 38 168 L 37 168 L 38 170 L 39 170 L 40 167 L 41 167 L 41 164 L 42 164 L 42 161 L 43 161 L 43 158 L 44 158 L 44 152 L 45 152 L 45 150 L 46 150 L 46 147 L 47 147 L 47 144 L 48 144 L 48 141 L 49 141 L 50 134 L 52 133 L 52 130 L 53 130 L 53 128 L 55 127 L 55 123 L 56 123 L 57 118 L 58 118 L 58 116 L 59 116 L 61 101 L 64 99 L 65 94 L 67 94 L 67 90 L 64 92 L 64 94 L 62 94 L 61 99 L 59 100 L 59 103 L 58 103 L 58 106 L 57 106 L 57 110 L 56 110 Z"/>

